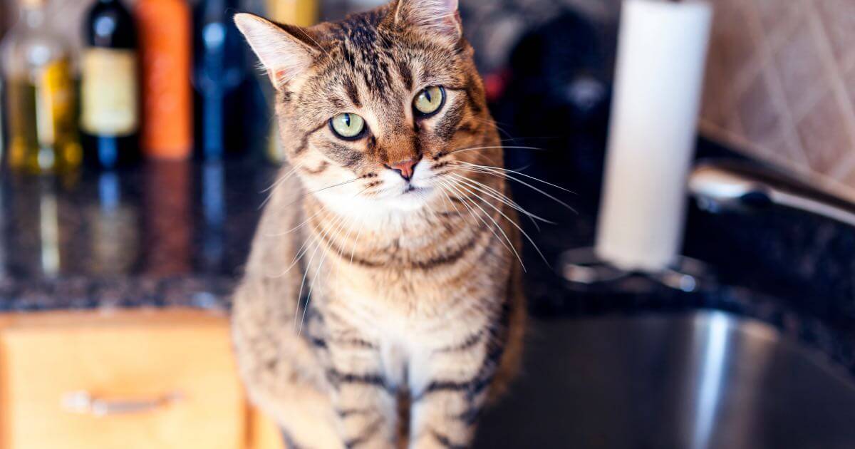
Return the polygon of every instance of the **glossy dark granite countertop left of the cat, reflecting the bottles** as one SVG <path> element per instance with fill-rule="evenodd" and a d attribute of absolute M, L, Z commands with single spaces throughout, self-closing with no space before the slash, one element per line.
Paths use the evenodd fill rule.
<path fill-rule="evenodd" d="M 227 308 L 276 170 L 147 162 L 0 175 L 0 310 Z"/>

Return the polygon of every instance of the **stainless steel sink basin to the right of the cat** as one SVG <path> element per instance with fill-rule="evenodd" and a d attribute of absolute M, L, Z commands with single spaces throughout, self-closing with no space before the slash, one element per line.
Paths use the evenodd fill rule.
<path fill-rule="evenodd" d="M 855 379 L 717 311 L 533 320 L 476 448 L 851 449 Z"/>

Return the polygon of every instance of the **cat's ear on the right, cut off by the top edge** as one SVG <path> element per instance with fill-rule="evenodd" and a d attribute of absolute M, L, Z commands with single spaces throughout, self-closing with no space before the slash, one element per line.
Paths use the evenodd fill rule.
<path fill-rule="evenodd" d="M 399 26 L 422 28 L 453 41 L 463 37 L 457 0 L 397 0 L 392 14 Z"/>

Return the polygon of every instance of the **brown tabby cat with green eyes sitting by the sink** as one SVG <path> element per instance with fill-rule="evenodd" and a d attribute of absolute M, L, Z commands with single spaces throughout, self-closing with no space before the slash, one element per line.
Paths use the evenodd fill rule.
<path fill-rule="evenodd" d="M 234 19 L 288 161 L 233 298 L 252 402 L 292 446 L 469 446 L 526 315 L 519 208 L 457 0 Z"/>

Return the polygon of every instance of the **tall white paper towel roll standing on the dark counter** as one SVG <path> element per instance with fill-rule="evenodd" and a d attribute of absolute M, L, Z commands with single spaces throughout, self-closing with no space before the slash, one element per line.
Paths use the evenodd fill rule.
<path fill-rule="evenodd" d="M 623 3 L 595 247 L 619 268 L 658 271 L 679 249 L 711 16 L 699 1 Z"/>

